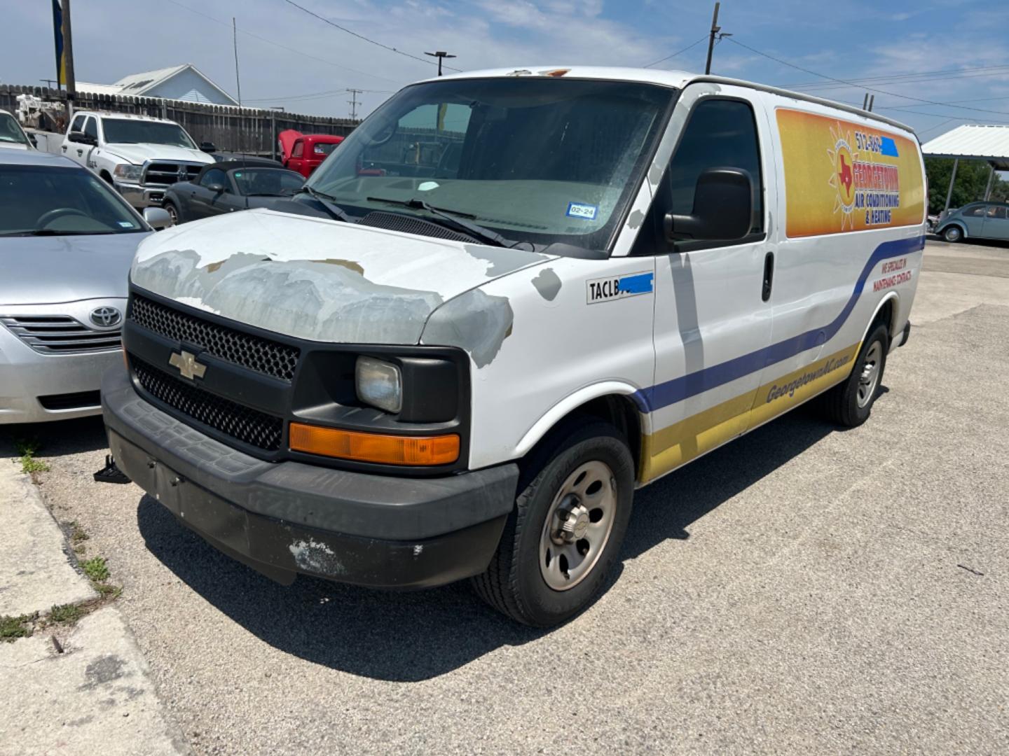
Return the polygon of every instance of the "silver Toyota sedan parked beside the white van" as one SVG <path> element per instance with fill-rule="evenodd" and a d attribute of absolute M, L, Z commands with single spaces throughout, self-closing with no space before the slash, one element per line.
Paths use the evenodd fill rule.
<path fill-rule="evenodd" d="M 66 157 L 0 150 L 0 423 L 101 412 L 133 254 L 167 223 Z"/>

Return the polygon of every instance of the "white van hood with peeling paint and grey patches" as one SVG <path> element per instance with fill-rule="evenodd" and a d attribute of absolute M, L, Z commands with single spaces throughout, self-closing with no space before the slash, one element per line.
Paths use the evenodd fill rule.
<path fill-rule="evenodd" d="M 287 336 L 417 344 L 442 303 L 554 256 L 249 210 L 159 232 L 134 285 Z"/>

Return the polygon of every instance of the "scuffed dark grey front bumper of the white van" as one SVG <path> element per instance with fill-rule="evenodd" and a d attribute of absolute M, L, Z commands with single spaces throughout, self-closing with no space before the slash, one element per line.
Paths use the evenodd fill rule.
<path fill-rule="evenodd" d="M 291 584 L 298 574 L 427 588 L 482 573 L 515 502 L 519 468 L 399 478 L 269 463 L 204 435 L 106 373 L 102 409 L 122 472 L 212 545 Z"/>

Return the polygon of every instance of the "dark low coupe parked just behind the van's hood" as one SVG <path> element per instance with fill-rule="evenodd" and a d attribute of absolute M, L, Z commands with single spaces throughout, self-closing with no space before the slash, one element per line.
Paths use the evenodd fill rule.
<path fill-rule="evenodd" d="M 272 160 L 248 158 L 204 166 L 192 181 L 179 181 L 164 193 L 162 207 L 174 223 L 196 221 L 249 208 L 286 202 L 305 177 Z"/>

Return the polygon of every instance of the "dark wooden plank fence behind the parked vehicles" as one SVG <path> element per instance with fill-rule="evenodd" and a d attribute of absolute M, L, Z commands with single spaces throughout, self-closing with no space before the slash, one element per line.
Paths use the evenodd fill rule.
<path fill-rule="evenodd" d="M 21 87 L 0 84 L 0 110 L 14 113 L 18 95 L 34 95 L 48 102 L 67 102 L 67 93 L 47 87 Z M 305 116 L 259 108 L 236 108 L 225 105 L 192 103 L 186 100 L 162 100 L 129 95 L 99 95 L 79 92 L 74 101 L 76 110 L 102 110 L 113 113 L 139 113 L 167 118 L 181 124 L 199 142 L 213 142 L 226 152 L 250 152 L 268 155 L 276 135 L 286 129 L 306 134 L 337 134 L 346 136 L 359 121 L 349 118 Z M 54 125 L 41 125 L 52 129 Z"/>

